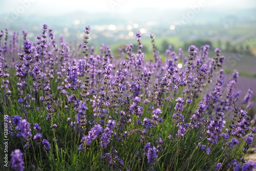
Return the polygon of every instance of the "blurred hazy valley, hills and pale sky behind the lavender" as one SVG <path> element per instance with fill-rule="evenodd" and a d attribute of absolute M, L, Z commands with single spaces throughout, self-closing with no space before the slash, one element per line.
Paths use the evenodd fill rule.
<path fill-rule="evenodd" d="M 152 57 L 150 33 L 162 56 L 168 45 L 186 52 L 191 44 L 208 44 L 212 56 L 219 47 L 226 56 L 226 80 L 237 69 L 241 95 L 250 87 L 256 94 L 255 0 L 0 0 L 0 30 L 9 28 L 10 35 L 15 30 L 22 37 L 24 29 L 34 41 L 43 24 L 53 28 L 56 39 L 81 43 L 84 27 L 90 25 L 90 45 L 107 44 L 113 52 L 136 44 L 140 30 L 146 58 Z"/>

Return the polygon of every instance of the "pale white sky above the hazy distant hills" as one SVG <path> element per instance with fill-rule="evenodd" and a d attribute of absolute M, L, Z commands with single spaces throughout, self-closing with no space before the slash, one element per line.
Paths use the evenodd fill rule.
<path fill-rule="evenodd" d="M 185 9 L 203 4 L 204 10 L 225 11 L 256 7 L 255 0 L 0 0 L 0 14 L 20 11 L 24 14 L 61 15 L 74 11 L 125 13 L 136 8 Z M 25 8 L 23 8 L 23 7 Z"/>

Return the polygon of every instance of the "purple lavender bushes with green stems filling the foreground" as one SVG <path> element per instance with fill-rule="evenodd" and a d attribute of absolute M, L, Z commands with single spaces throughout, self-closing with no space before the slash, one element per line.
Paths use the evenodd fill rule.
<path fill-rule="evenodd" d="M 150 34 L 146 61 L 139 31 L 138 50 L 115 55 L 89 48 L 90 26 L 81 44 L 57 43 L 47 25 L 35 42 L 27 34 L 0 33 L 0 136 L 8 128 L 9 139 L 1 170 L 256 168 L 247 160 L 252 91 L 239 96 L 236 70 L 224 83 L 219 48 L 211 58 L 208 45 L 169 46 L 163 59 Z"/>

